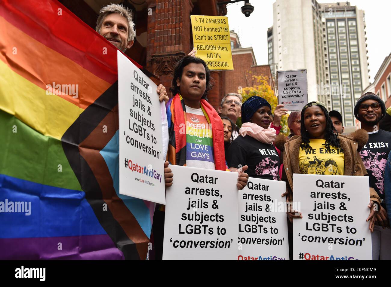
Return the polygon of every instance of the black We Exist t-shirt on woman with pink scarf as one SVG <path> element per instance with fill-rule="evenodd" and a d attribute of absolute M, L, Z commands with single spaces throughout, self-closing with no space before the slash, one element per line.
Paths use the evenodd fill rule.
<path fill-rule="evenodd" d="M 249 177 L 278 180 L 280 157 L 273 144 L 265 144 L 249 135 L 239 135 L 228 149 L 228 168 L 248 166 Z"/>

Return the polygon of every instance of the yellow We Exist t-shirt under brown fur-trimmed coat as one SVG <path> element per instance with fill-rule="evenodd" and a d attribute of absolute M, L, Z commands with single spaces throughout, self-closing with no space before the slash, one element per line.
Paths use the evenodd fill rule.
<path fill-rule="evenodd" d="M 345 156 L 339 148 L 325 147 L 324 139 L 310 139 L 311 148 L 299 152 L 301 173 L 309 175 L 343 175 Z"/>

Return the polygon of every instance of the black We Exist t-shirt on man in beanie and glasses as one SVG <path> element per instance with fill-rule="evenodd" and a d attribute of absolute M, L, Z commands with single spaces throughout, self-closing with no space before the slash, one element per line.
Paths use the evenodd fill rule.
<path fill-rule="evenodd" d="M 369 175 L 369 187 L 373 187 L 384 202 L 384 169 L 386 168 L 388 153 L 391 150 L 391 132 L 378 130 L 370 133 L 366 145 L 360 151 L 362 162 Z"/>

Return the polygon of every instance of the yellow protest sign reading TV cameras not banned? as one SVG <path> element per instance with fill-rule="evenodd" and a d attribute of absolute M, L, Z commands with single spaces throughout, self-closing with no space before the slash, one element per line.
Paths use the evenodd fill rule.
<path fill-rule="evenodd" d="M 190 16 L 195 55 L 210 70 L 233 70 L 230 28 L 225 16 Z"/>

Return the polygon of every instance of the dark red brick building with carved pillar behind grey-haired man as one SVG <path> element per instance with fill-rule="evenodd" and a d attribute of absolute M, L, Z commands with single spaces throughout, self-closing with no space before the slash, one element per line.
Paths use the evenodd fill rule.
<path fill-rule="evenodd" d="M 190 15 L 226 15 L 224 0 L 59 0 L 81 20 L 95 30 L 102 6 L 122 3 L 133 11 L 136 39 L 126 54 L 157 77 L 167 89 L 171 87 L 175 63 L 193 48 Z M 140 3 L 140 4 L 136 4 Z M 243 16 L 244 17 L 244 16 Z M 212 72 L 215 80 L 208 93 L 209 102 L 217 109 L 224 89 L 224 71 Z"/>

